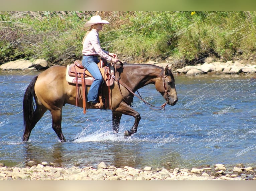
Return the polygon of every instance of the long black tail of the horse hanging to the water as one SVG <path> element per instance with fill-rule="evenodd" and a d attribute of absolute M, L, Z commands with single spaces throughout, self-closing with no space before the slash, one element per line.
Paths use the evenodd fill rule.
<path fill-rule="evenodd" d="M 24 118 L 24 132 L 22 141 L 28 140 L 30 132 L 33 128 L 34 118 L 34 101 L 35 99 L 35 82 L 36 76 L 28 85 L 25 95 L 23 97 L 23 118 Z M 35 99 L 36 102 L 36 99 Z"/>

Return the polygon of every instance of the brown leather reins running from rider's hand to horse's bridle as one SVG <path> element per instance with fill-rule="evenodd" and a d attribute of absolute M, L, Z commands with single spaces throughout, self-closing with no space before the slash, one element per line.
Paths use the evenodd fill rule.
<path fill-rule="evenodd" d="M 120 62 L 120 61 L 119 61 L 119 62 Z M 123 63 L 122 63 L 122 62 L 120 62 L 120 63 L 121 63 L 121 65 L 123 66 Z M 115 65 L 114 67 L 115 67 L 115 71 L 116 71 L 116 65 Z M 116 74 L 117 74 L 117 71 L 116 71 Z M 152 107 L 159 108 L 159 109 L 154 109 L 154 108 L 150 107 L 151 109 L 153 109 L 153 110 L 165 109 L 165 105 L 168 103 L 167 101 L 166 101 L 165 103 L 163 103 L 161 106 L 154 106 L 154 105 L 148 103 L 147 101 L 145 101 L 145 100 L 141 97 L 141 95 L 139 94 L 138 91 L 137 91 L 137 93 L 139 94 L 139 96 L 136 95 L 136 94 L 130 89 L 130 87 L 127 86 L 126 84 L 124 84 L 120 79 L 117 79 L 114 75 L 112 76 L 112 78 L 114 78 L 114 80 L 117 82 L 118 87 L 119 87 L 119 91 L 120 91 L 120 94 L 121 94 L 121 95 L 122 95 L 122 92 L 121 92 L 121 89 L 120 89 L 120 84 L 121 84 L 123 87 L 125 87 L 131 94 L 135 95 L 135 96 L 138 97 L 140 100 L 142 100 L 144 103 L 146 103 L 146 104 L 148 104 L 148 105 L 150 105 L 150 106 L 152 106 Z M 166 76 L 163 76 L 163 83 L 164 83 L 165 94 L 167 94 L 167 88 L 166 88 L 166 84 L 165 84 L 165 78 L 166 78 Z M 122 96 L 123 96 L 123 95 L 122 95 Z M 165 95 L 165 96 L 168 96 L 168 94 Z M 124 96 L 123 96 L 123 100 L 124 100 L 128 105 L 132 106 L 130 103 L 128 103 L 128 102 L 125 100 Z"/>

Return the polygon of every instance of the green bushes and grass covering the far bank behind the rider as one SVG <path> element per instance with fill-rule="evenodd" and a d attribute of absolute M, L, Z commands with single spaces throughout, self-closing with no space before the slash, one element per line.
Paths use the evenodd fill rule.
<path fill-rule="evenodd" d="M 212 54 L 229 60 L 238 50 L 256 50 L 256 15 L 249 11 L 13 11 L 0 14 L 0 63 L 81 60 L 83 26 L 96 14 L 110 22 L 100 32 L 101 46 L 121 58 L 171 56 L 195 64 Z"/>

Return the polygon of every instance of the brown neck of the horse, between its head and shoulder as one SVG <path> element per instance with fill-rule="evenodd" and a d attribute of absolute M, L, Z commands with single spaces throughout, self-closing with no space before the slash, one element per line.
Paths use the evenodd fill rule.
<path fill-rule="evenodd" d="M 136 91 L 148 84 L 155 84 L 156 80 L 159 79 L 159 74 L 163 71 L 162 68 L 153 65 L 134 65 L 129 67 L 129 73 L 127 81 L 130 87 Z M 132 74 L 132 75 L 129 75 Z"/>

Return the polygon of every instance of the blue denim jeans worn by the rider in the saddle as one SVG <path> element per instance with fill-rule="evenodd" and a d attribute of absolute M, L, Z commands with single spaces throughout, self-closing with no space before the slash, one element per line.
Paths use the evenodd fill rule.
<path fill-rule="evenodd" d="M 100 69 L 96 64 L 99 62 L 100 61 L 98 60 L 98 58 L 93 56 L 84 56 L 82 60 L 82 64 L 85 67 L 85 69 L 88 70 L 91 73 L 91 75 L 95 78 L 88 92 L 87 102 L 89 101 L 92 101 L 93 103 L 98 102 L 97 100 L 98 100 L 99 88 L 103 81 Z"/>

